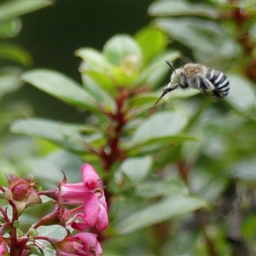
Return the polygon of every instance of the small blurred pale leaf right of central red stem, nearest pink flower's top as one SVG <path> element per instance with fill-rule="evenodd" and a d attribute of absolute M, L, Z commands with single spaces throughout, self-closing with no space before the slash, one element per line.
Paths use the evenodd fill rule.
<path fill-rule="evenodd" d="M 119 172 L 125 173 L 132 182 L 139 182 L 148 176 L 152 165 L 150 156 L 129 158 L 119 166 Z"/>

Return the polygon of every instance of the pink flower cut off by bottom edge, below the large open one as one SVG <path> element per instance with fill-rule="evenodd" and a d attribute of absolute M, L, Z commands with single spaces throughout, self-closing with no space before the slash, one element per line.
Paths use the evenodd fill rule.
<path fill-rule="evenodd" d="M 58 256 L 100 256 L 102 247 L 92 233 L 79 233 L 67 237 L 57 247 Z"/>

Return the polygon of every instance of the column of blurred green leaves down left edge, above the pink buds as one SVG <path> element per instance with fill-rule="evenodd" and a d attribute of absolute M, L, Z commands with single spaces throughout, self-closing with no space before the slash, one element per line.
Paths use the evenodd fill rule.
<path fill-rule="evenodd" d="M 25 68 L 32 66 L 32 56 L 15 42 L 22 29 L 20 15 L 49 6 L 51 1 L 19 1 L 7 0 L 0 3 L 0 131 L 1 131 L 1 173 L 4 182 L 4 172 L 22 172 L 23 162 L 34 149 L 32 143 L 24 137 L 10 136 L 9 125 L 16 119 L 32 114 L 32 108 L 22 99 L 14 99 L 12 94 L 24 84 L 20 76 Z M 27 150 L 14 150 L 25 147 Z M 32 150 L 28 150 L 31 147 Z M 30 153 L 28 154 L 28 151 Z M 25 157 L 26 155 L 26 157 Z M 16 164 L 19 161 L 19 164 Z M 15 162 L 15 165 L 14 165 Z M 15 168 L 19 166 L 19 171 Z M 17 168 L 17 169 L 18 169 Z M 3 185 L 3 183 L 2 183 Z"/>

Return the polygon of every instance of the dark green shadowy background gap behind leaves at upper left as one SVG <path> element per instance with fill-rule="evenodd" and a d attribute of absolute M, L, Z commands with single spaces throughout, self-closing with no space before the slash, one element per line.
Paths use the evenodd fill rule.
<path fill-rule="evenodd" d="M 84 46 L 101 50 L 115 33 L 136 33 L 150 21 L 147 9 L 151 2 L 56 1 L 53 6 L 22 16 L 22 31 L 15 41 L 32 55 L 32 67 L 55 69 L 80 82 L 80 60 L 74 51 Z M 77 109 L 30 85 L 25 84 L 16 96 L 30 102 L 38 117 L 84 120 Z"/>

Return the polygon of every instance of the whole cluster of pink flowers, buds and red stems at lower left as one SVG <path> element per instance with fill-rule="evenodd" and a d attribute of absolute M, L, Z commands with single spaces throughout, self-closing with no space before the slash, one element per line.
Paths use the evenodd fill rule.
<path fill-rule="evenodd" d="M 89 164 L 84 164 L 81 172 L 82 183 L 67 183 L 64 175 L 55 189 L 44 191 L 38 191 L 32 176 L 6 175 L 9 188 L 0 186 L 0 199 L 7 201 L 0 205 L 0 256 L 44 255 L 45 252 L 61 256 L 102 255 L 96 234 L 88 232 L 92 229 L 102 232 L 108 227 L 102 181 Z M 54 210 L 24 232 L 20 229 L 20 216 L 27 207 L 42 204 L 45 197 L 55 204 Z M 64 235 L 46 236 L 39 231 L 42 227 L 51 231 L 58 227 L 56 232 L 61 228 Z"/>

